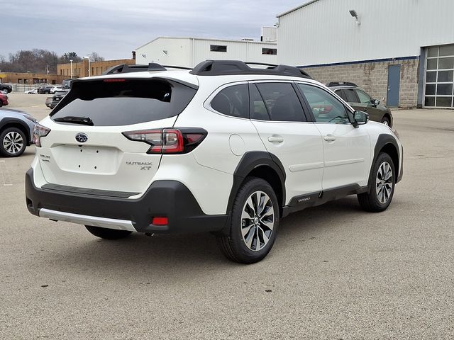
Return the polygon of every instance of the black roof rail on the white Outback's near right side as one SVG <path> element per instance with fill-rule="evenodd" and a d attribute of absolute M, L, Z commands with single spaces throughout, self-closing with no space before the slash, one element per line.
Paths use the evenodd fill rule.
<path fill-rule="evenodd" d="M 268 66 L 266 69 L 248 67 L 248 64 Z M 259 62 L 241 62 L 239 60 L 205 60 L 192 69 L 197 76 L 222 76 L 228 74 L 273 74 L 282 76 L 310 78 L 302 69 L 288 65 L 265 64 Z"/>

